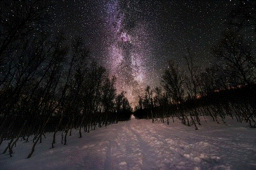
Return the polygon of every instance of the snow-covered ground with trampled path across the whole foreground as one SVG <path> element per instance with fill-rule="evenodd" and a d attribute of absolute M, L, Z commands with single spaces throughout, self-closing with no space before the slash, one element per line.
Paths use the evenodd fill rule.
<path fill-rule="evenodd" d="M 201 121 L 195 131 L 178 120 L 167 125 L 132 117 L 82 138 L 74 131 L 66 146 L 58 133 L 53 149 L 46 133 L 29 159 L 32 141 L 19 140 L 11 158 L 9 151 L 0 154 L 0 170 L 256 170 L 255 128 L 230 118 L 227 125 Z"/>

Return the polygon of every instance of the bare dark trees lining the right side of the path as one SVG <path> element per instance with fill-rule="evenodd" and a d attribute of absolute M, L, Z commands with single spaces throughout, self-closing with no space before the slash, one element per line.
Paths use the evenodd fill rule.
<path fill-rule="evenodd" d="M 242 1 L 228 15 L 227 30 L 212 47 L 216 60 L 209 67 L 200 66 L 190 48 L 182 57 L 183 66 L 170 61 L 161 77 L 161 87 L 147 86 L 145 95 L 139 96 L 134 116 L 168 124 L 170 119 L 178 118 L 195 129 L 200 116 L 211 116 L 218 123 L 231 116 L 256 128 L 254 6 L 254 2 Z"/>

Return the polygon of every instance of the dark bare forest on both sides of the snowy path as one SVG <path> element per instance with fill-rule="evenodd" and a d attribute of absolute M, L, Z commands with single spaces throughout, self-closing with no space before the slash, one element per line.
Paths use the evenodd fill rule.
<path fill-rule="evenodd" d="M 117 94 L 116 77 L 93 60 L 86 40 L 43 29 L 49 2 L 13 3 L 13 9 L 6 9 L 8 15 L 2 9 L 0 14 L 0 145 L 9 140 L 3 153 L 12 156 L 21 138 L 33 143 L 30 158 L 46 132 L 53 132 L 54 148 L 58 131 L 65 145 L 72 129 L 79 130 L 80 138 L 130 120 L 131 114 L 152 123 L 169 124 L 177 118 L 195 129 L 204 116 L 216 123 L 231 116 L 256 128 L 255 44 L 243 36 L 247 27 L 255 34 L 253 3 L 241 3 L 231 12 L 229 29 L 212 47 L 216 63 L 202 68 L 196 54 L 186 48 L 186 67 L 170 60 L 161 86 L 146 86 L 135 110 L 126 92 Z"/>

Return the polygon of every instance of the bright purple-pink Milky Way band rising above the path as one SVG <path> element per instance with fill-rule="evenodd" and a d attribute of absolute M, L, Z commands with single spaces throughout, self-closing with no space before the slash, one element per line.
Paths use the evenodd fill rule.
<path fill-rule="evenodd" d="M 126 14 L 118 1 L 106 4 L 108 29 L 108 68 L 117 77 L 117 92 L 126 91 L 130 102 L 135 102 L 145 86 L 145 60 L 150 59 L 148 35 L 145 24 L 137 24 L 133 30 L 124 27 Z"/>

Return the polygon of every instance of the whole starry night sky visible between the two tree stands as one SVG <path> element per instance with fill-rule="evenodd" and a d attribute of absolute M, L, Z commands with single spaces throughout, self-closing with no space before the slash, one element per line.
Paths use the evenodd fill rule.
<path fill-rule="evenodd" d="M 185 48 L 205 68 L 211 47 L 228 28 L 237 1 L 58 1 L 49 10 L 52 34 L 82 36 L 94 60 L 117 77 L 117 93 L 127 91 L 131 104 L 146 85 L 160 86 L 173 60 L 184 66 Z"/>

